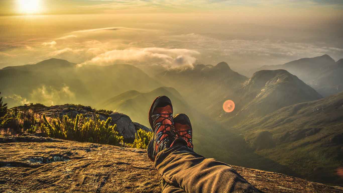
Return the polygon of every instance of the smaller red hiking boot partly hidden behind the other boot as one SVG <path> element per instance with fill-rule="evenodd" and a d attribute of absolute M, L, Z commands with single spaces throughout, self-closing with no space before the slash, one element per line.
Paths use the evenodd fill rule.
<path fill-rule="evenodd" d="M 184 113 L 177 114 L 173 117 L 174 130 L 176 137 L 183 138 L 187 141 L 187 146 L 193 150 L 193 131 L 192 124 L 188 116 Z"/>

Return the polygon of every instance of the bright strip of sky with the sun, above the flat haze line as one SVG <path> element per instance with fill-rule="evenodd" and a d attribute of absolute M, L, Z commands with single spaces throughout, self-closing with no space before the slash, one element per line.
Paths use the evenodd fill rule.
<path fill-rule="evenodd" d="M 341 0 L 1 0 L 1 15 L 77 13 L 296 12 L 338 14 Z M 24 5 L 24 6 L 23 6 Z M 24 9 L 22 8 L 24 7 Z M 33 9 L 33 7 L 35 9 Z M 26 10 L 25 10 L 26 8 Z M 29 9 L 29 11 L 27 10 Z M 247 13 L 247 12 L 246 12 Z"/>

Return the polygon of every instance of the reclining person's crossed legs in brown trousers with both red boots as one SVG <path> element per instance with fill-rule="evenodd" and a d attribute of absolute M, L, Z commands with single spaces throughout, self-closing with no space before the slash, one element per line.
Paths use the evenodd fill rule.
<path fill-rule="evenodd" d="M 190 120 L 185 114 L 173 117 L 167 96 L 153 101 L 148 118 L 154 135 L 147 155 L 161 174 L 162 192 L 259 192 L 227 164 L 193 151 Z"/>

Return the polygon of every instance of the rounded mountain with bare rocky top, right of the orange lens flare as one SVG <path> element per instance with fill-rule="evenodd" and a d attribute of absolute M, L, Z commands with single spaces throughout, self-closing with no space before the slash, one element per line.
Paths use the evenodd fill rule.
<path fill-rule="evenodd" d="M 262 117 L 284 106 L 322 98 L 317 91 L 286 70 L 255 72 L 238 93 L 241 97 L 236 101 L 237 113 L 232 117 L 235 121 Z"/>

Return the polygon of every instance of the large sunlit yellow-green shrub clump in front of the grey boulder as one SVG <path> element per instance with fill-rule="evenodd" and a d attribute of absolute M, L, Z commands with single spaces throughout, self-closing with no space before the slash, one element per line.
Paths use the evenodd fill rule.
<path fill-rule="evenodd" d="M 123 144 L 123 136 L 116 131 L 117 125 L 110 125 L 111 117 L 101 121 L 98 115 L 88 118 L 79 114 L 75 118 L 64 115 L 48 121 L 43 115 L 43 120 L 43 130 L 49 137 L 98 144 Z"/>

